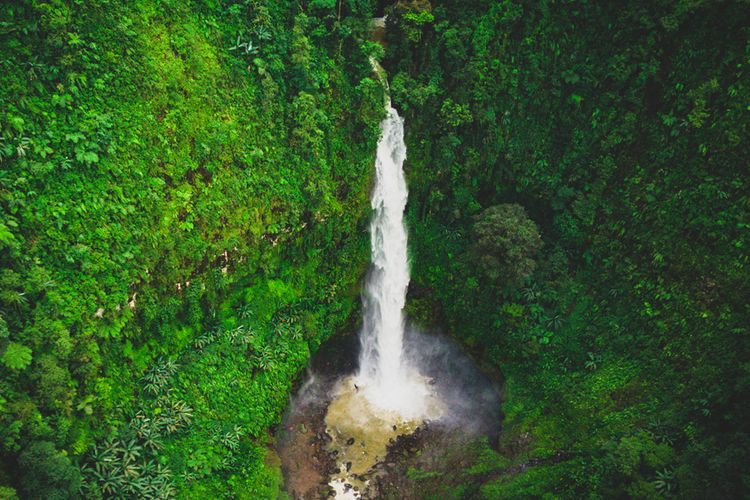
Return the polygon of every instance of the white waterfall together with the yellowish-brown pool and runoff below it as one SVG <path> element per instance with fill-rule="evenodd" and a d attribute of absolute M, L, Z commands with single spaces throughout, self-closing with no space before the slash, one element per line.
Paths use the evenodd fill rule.
<path fill-rule="evenodd" d="M 345 486 L 366 487 L 357 478 L 385 459 L 388 444 L 397 436 L 443 413 L 434 387 L 404 353 L 403 309 L 409 286 L 406 145 L 403 119 L 390 102 L 386 110 L 375 162 L 372 263 L 363 296 L 359 372 L 339 382 L 325 418 L 340 466 L 330 485 L 342 499 L 359 498 L 353 487 Z"/>

